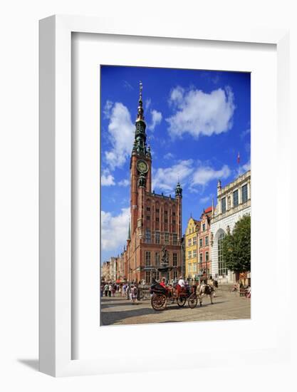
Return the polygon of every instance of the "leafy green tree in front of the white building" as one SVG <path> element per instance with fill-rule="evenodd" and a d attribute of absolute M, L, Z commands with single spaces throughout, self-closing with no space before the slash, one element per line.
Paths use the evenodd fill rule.
<path fill-rule="evenodd" d="M 251 271 L 251 216 L 244 215 L 236 222 L 233 232 L 222 240 L 222 256 L 226 267 L 233 272 Z"/>

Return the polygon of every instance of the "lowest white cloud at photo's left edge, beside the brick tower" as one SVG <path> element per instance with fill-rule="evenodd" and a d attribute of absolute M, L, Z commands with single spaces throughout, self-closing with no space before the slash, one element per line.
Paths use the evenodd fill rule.
<path fill-rule="evenodd" d="M 124 247 L 130 217 L 130 208 L 123 208 L 119 215 L 101 211 L 101 246 L 103 250 L 118 251 Z"/>

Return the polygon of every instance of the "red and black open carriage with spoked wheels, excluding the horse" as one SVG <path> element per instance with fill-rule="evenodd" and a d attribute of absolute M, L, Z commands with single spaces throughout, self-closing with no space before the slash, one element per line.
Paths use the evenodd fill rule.
<path fill-rule="evenodd" d="M 179 307 L 188 303 L 189 308 L 194 309 L 198 303 L 197 286 L 192 287 L 163 287 L 156 281 L 151 286 L 151 304 L 152 309 L 156 311 L 166 309 L 168 304 L 174 304 L 176 301 Z"/>

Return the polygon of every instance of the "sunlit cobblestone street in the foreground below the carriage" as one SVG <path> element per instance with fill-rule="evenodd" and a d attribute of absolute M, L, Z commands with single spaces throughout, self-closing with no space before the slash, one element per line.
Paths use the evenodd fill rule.
<path fill-rule="evenodd" d="M 189 309 L 186 305 L 179 308 L 176 303 L 167 306 L 165 311 L 152 309 L 150 299 L 132 303 L 127 299 L 103 297 L 101 299 L 101 325 L 151 324 L 180 321 L 209 321 L 249 319 L 251 300 L 239 296 L 237 292 L 217 292 L 214 304 L 209 297 L 204 298 L 202 307 Z"/>

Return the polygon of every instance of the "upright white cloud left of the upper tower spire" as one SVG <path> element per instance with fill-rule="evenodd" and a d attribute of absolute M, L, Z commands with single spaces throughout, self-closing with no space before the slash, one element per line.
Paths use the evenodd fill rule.
<path fill-rule="evenodd" d="M 110 170 L 123 166 L 128 156 L 130 156 L 134 128 L 129 110 L 123 103 L 115 103 L 111 109 L 110 123 L 108 125 L 108 134 L 112 148 L 109 151 L 105 151 L 105 160 Z"/>

